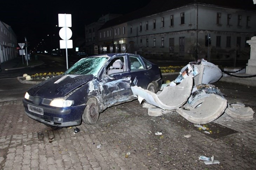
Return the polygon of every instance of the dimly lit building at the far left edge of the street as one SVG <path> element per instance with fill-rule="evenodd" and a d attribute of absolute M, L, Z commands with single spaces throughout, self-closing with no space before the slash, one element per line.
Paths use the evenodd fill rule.
<path fill-rule="evenodd" d="M 11 26 L 0 21 L 0 63 L 17 57 L 17 37 Z"/>

